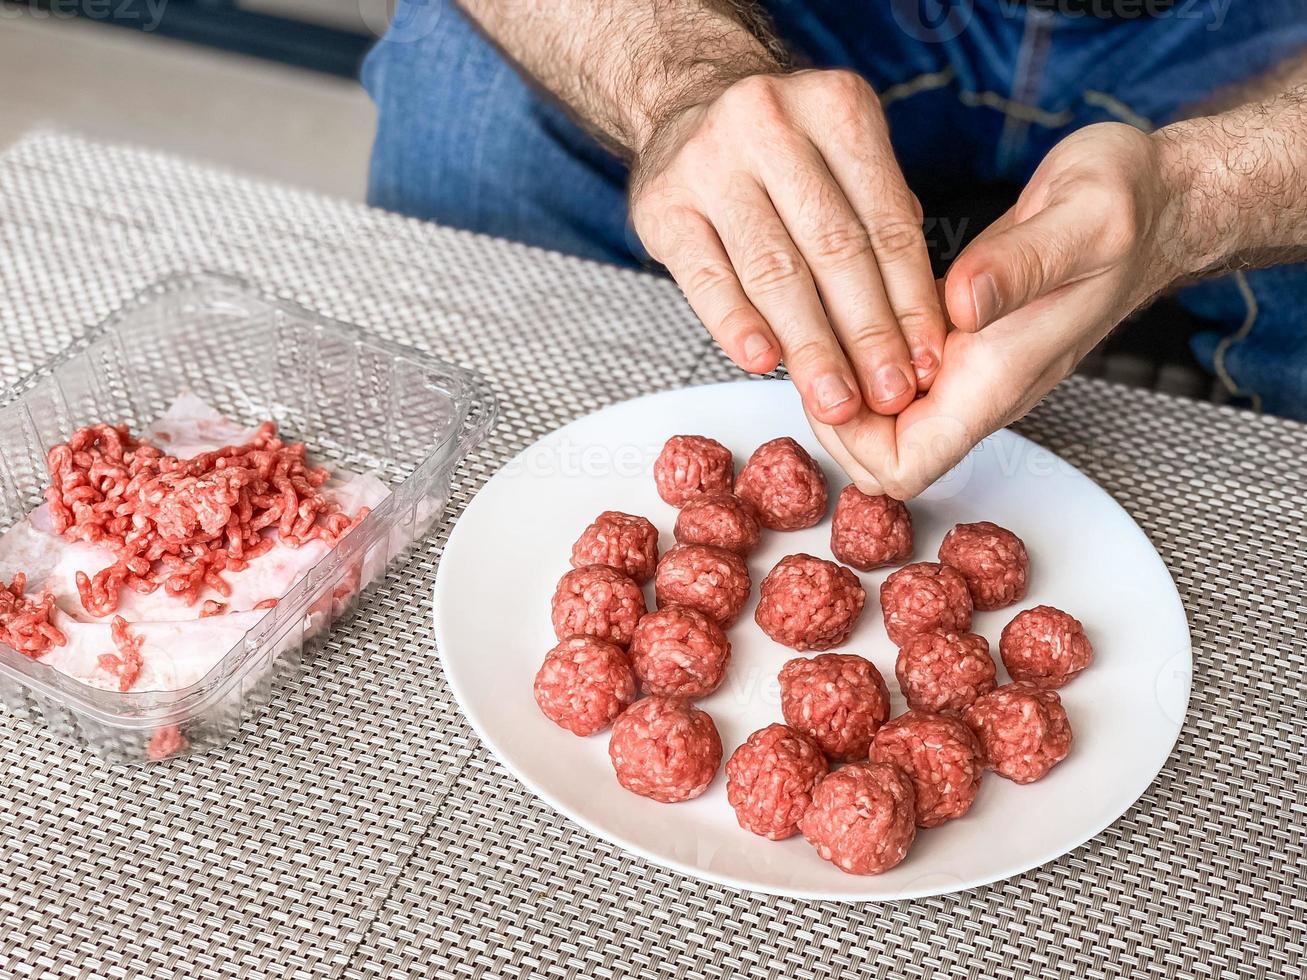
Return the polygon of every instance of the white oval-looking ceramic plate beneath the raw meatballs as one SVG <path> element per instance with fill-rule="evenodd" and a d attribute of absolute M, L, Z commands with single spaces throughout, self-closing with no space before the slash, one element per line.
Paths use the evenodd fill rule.
<path fill-rule="evenodd" d="M 527 449 L 477 494 L 444 550 L 435 584 L 435 634 L 446 676 L 490 750 L 537 796 L 601 838 L 685 874 L 757 891 L 836 900 L 938 895 L 1036 868 L 1120 817 L 1162 768 L 1188 706 L 1191 649 L 1184 609 L 1161 558 L 1106 493 L 1055 455 L 1008 431 L 987 439 L 911 504 L 916 561 L 936 555 L 958 521 L 992 520 L 1030 550 L 1030 595 L 1078 617 L 1094 665 L 1063 689 L 1076 740 L 1043 780 L 1018 787 L 987 774 L 963 819 L 921 831 L 898 868 L 843 874 L 801 839 L 769 841 L 741 830 L 725 776 L 698 800 L 657 804 L 622 789 L 608 734 L 578 738 L 546 720 L 532 681 L 554 644 L 549 602 L 571 544 L 604 510 L 642 514 L 673 544 L 676 511 L 654 489 L 652 464 L 677 433 L 731 447 L 736 466 L 780 435 L 822 464 L 831 500 L 847 482 L 819 451 L 784 382 L 740 382 L 637 399 L 574 422 Z M 731 630 L 731 669 L 699 702 L 716 720 L 727 757 L 750 732 L 780 721 L 776 672 L 793 651 L 753 622 L 757 584 L 784 555 L 830 557 L 830 520 L 800 532 L 763 532 L 749 568 L 753 597 Z M 863 574 L 867 610 L 840 649 L 894 681 L 878 591 L 887 571 Z M 652 608 L 652 587 L 650 604 Z M 1016 608 L 978 613 L 997 660 Z M 1000 682 L 1006 681 L 1000 664 Z"/>

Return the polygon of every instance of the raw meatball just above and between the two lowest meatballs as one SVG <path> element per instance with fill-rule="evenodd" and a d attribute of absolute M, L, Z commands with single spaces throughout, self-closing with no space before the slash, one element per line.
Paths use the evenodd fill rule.
<path fill-rule="evenodd" d="M 780 713 L 835 762 L 865 759 L 890 693 L 876 665 L 852 653 L 795 657 L 780 668 Z"/>

